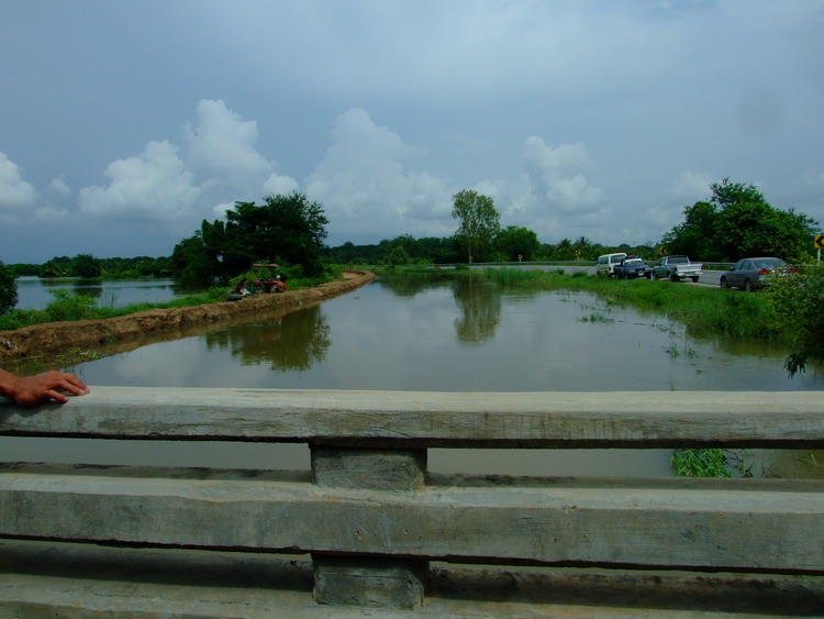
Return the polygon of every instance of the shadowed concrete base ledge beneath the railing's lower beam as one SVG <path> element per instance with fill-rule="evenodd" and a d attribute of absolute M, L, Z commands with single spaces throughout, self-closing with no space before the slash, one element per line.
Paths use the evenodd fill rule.
<path fill-rule="evenodd" d="M 0 541 L 0 617 L 820 617 L 820 577 L 437 564 L 411 611 L 314 603 L 305 557 Z"/>

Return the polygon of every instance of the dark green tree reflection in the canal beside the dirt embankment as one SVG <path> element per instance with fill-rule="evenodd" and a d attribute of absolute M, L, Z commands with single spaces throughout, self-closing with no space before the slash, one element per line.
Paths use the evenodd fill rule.
<path fill-rule="evenodd" d="M 300 372 L 326 356 L 332 340 L 320 306 L 203 334 L 207 350 L 229 350 L 244 365 L 269 364 L 277 372 Z"/>

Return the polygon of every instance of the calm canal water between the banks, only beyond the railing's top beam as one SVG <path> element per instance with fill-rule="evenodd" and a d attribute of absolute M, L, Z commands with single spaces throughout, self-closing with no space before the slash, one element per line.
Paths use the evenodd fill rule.
<path fill-rule="evenodd" d="M 691 336 L 587 294 L 459 277 L 381 277 L 291 312 L 197 327 L 76 369 L 90 384 L 433 391 L 810 390 L 783 351 Z M 169 366 L 174 367 L 171 374 Z"/>

